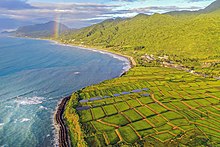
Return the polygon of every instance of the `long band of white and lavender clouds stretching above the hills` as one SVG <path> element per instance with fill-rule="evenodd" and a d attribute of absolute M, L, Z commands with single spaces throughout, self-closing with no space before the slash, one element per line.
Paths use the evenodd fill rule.
<path fill-rule="evenodd" d="M 17 6 L 15 6 L 15 3 Z M 128 8 L 124 7 L 121 3 L 27 3 L 27 1 L 22 0 L 0 0 L 0 20 L 1 18 L 8 18 L 10 21 L 25 22 L 27 25 L 55 20 L 69 27 L 80 28 L 101 22 L 105 19 L 132 17 L 138 13 L 152 14 L 176 10 L 195 10 L 200 8 L 178 6 L 139 7 Z M 16 24 L 21 25 L 23 23 Z"/>

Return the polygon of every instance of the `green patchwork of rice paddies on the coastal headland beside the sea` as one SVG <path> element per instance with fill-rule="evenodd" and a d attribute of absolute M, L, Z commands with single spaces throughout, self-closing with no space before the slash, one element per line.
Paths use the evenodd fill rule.
<path fill-rule="evenodd" d="M 72 145 L 220 146 L 220 81 L 134 67 L 74 93 L 65 118 Z"/>

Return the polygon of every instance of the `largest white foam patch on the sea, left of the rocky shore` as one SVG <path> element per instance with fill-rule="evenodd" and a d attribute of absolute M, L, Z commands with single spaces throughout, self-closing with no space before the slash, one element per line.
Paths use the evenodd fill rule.
<path fill-rule="evenodd" d="M 43 97 L 17 97 L 15 102 L 19 105 L 37 105 L 43 103 Z"/>

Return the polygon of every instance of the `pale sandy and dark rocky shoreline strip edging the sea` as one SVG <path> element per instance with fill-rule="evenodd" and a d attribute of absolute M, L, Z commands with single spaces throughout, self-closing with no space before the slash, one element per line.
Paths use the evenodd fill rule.
<path fill-rule="evenodd" d="M 31 38 L 31 39 L 35 39 L 35 38 Z M 49 40 L 49 39 L 38 39 L 37 40 L 45 40 L 45 41 L 50 41 L 52 43 L 55 43 L 57 45 L 62 45 L 62 46 L 69 46 L 69 47 L 77 47 L 80 49 L 86 49 L 86 50 L 91 50 L 94 52 L 99 52 L 102 54 L 107 54 L 112 56 L 113 58 L 117 58 L 118 60 L 122 60 L 125 61 L 123 59 L 128 60 L 128 65 L 125 66 L 126 69 L 123 69 L 122 73 L 118 76 L 121 77 L 124 74 L 126 74 L 131 68 L 135 67 L 137 64 L 135 62 L 135 60 L 133 59 L 133 57 L 131 56 L 126 56 L 126 55 L 122 55 L 119 53 L 114 53 L 111 51 L 106 51 L 106 50 L 101 50 L 101 49 L 95 49 L 95 48 L 88 48 L 85 46 L 77 46 L 77 45 L 71 45 L 71 44 L 62 44 L 58 41 L 55 40 Z M 125 61 L 127 62 L 127 61 Z M 55 127 L 55 136 L 56 136 L 56 142 L 58 144 L 59 147 L 70 147 L 71 146 L 71 140 L 70 140 L 70 136 L 69 136 L 69 131 L 68 131 L 68 126 L 65 125 L 65 120 L 63 118 L 64 115 L 64 111 L 66 109 L 66 104 L 68 103 L 68 101 L 70 100 L 71 96 L 67 96 L 65 98 L 62 98 L 61 101 L 58 103 L 55 113 L 54 113 L 54 127 Z"/>

